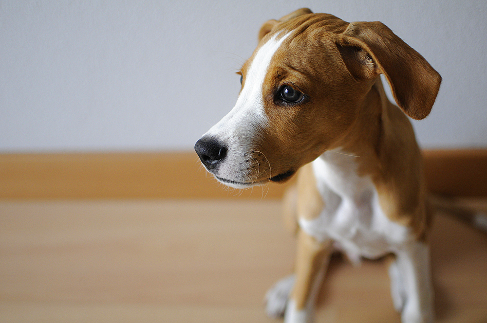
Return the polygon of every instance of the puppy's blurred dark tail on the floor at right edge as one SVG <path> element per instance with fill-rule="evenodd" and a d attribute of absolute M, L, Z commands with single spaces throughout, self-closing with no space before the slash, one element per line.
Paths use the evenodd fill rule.
<path fill-rule="evenodd" d="M 433 209 L 455 215 L 474 228 L 487 233 L 487 206 L 475 207 L 472 203 L 454 197 L 430 195 L 428 202 Z"/>

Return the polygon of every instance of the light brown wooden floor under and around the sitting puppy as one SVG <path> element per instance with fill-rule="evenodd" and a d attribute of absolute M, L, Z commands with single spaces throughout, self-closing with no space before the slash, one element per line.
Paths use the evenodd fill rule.
<path fill-rule="evenodd" d="M 293 238 L 270 201 L 2 201 L 0 322 L 270 323 Z M 487 322 L 487 235 L 438 215 L 438 322 Z M 381 261 L 334 256 L 317 322 L 399 322 Z"/>

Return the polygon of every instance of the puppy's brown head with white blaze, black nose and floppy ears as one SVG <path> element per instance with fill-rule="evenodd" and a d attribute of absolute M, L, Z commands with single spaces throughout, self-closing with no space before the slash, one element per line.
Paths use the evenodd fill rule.
<path fill-rule="evenodd" d="M 300 9 L 269 20 L 244 63 L 235 107 L 195 144 L 206 169 L 244 188 L 289 179 L 349 132 L 383 73 L 400 108 L 426 117 L 441 77 L 380 22 Z"/>

